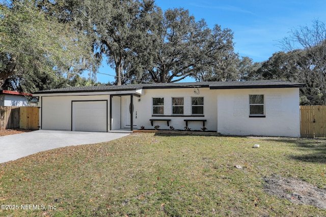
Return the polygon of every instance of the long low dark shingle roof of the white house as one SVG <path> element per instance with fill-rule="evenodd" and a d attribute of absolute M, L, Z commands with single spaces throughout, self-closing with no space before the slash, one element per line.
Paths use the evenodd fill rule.
<path fill-rule="evenodd" d="M 289 81 L 259 80 L 259 81 L 204 81 L 204 82 L 184 82 L 184 83 L 149 83 L 149 84 L 128 84 L 111 86 L 80 86 L 66 87 L 37 91 L 34 94 L 54 94 L 67 92 L 102 92 L 102 91 L 122 91 L 137 89 L 162 89 L 162 88 L 189 88 L 189 87 L 209 87 L 210 89 L 243 89 L 243 88 L 288 88 L 304 87 L 305 84 Z"/>

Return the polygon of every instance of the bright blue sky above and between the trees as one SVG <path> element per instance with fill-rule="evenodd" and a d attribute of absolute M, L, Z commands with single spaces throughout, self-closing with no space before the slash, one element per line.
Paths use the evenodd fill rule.
<path fill-rule="evenodd" d="M 325 0 L 155 0 L 163 11 L 169 8 L 189 10 L 196 20 L 205 19 L 208 26 L 221 25 L 233 31 L 234 51 L 254 61 L 267 60 L 280 51 L 280 40 L 293 28 L 310 26 L 314 19 L 326 23 Z M 99 72 L 115 75 L 108 66 Z M 112 76 L 97 74 L 97 81 L 114 81 Z"/>

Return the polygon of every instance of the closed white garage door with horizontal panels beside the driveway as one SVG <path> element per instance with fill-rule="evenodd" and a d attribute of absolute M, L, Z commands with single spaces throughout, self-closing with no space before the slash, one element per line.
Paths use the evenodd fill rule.
<path fill-rule="evenodd" d="M 107 101 L 73 101 L 72 131 L 107 132 Z"/>

